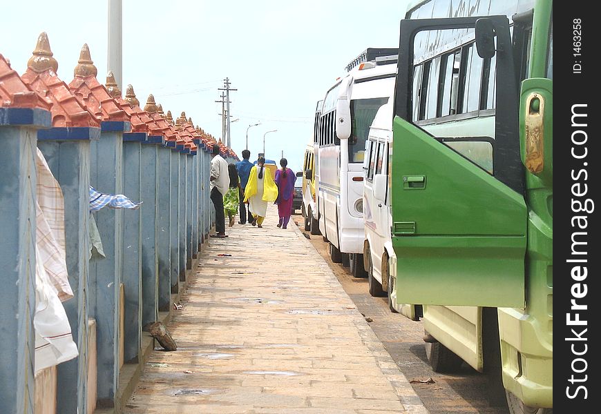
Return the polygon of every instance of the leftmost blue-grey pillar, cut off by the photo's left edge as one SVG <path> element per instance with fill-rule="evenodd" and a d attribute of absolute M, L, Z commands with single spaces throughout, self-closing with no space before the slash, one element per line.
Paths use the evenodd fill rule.
<path fill-rule="evenodd" d="M 0 401 L 7 413 L 35 411 L 35 154 L 37 128 L 49 126 L 46 110 L 0 108 L 0 335 L 8 339 Z"/>

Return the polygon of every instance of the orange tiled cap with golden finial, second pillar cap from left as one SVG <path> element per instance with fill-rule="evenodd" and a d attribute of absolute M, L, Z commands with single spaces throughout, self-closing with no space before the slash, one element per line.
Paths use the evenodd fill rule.
<path fill-rule="evenodd" d="M 58 63 L 50 51 L 46 32 L 39 35 L 33 56 L 27 62 L 27 70 L 21 77 L 32 90 L 49 98 L 53 105 L 50 112 L 54 127 L 97 127 L 100 119 L 79 101 L 68 85 L 56 74 Z"/>

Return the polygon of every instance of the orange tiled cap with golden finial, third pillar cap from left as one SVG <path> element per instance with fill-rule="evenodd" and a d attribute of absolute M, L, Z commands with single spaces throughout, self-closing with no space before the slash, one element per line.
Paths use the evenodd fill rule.
<path fill-rule="evenodd" d="M 97 69 L 90 57 L 88 45 L 84 44 L 79 54 L 79 62 L 69 83 L 69 88 L 79 97 L 88 109 L 103 121 L 129 121 L 129 117 L 108 93 L 108 90 L 96 79 Z"/>

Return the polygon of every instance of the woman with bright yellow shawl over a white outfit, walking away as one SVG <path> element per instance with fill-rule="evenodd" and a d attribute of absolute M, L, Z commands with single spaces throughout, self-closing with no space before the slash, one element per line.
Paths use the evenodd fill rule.
<path fill-rule="evenodd" d="M 244 197 L 253 215 L 252 225 L 258 227 L 263 227 L 263 220 L 267 215 L 267 203 L 274 202 L 278 198 L 278 186 L 271 178 L 271 172 L 264 165 L 265 158 L 259 157 L 257 165 L 251 168 Z"/>

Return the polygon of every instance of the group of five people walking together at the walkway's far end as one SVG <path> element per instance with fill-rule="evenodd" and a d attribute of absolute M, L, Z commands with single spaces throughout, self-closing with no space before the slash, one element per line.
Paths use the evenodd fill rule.
<path fill-rule="evenodd" d="M 227 164 L 216 144 L 211 157 L 210 187 L 216 231 L 211 237 L 228 237 L 225 234 L 225 215 L 229 218 L 230 227 L 236 222 L 236 213 L 240 213 L 238 224 L 263 227 L 267 203 L 273 202 L 278 205 L 278 228 L 287 228 L 296 180 L 294 172 L 287 167 L 287 159 L 280 159 L 281 168 L 276 171 L 275 177 L 271 177 L 271 171 L 265 167 L 265 158 L 258 157 L 256 164 L 251 163 L 249 150 L 242 151 L 242 161 Z"/>

